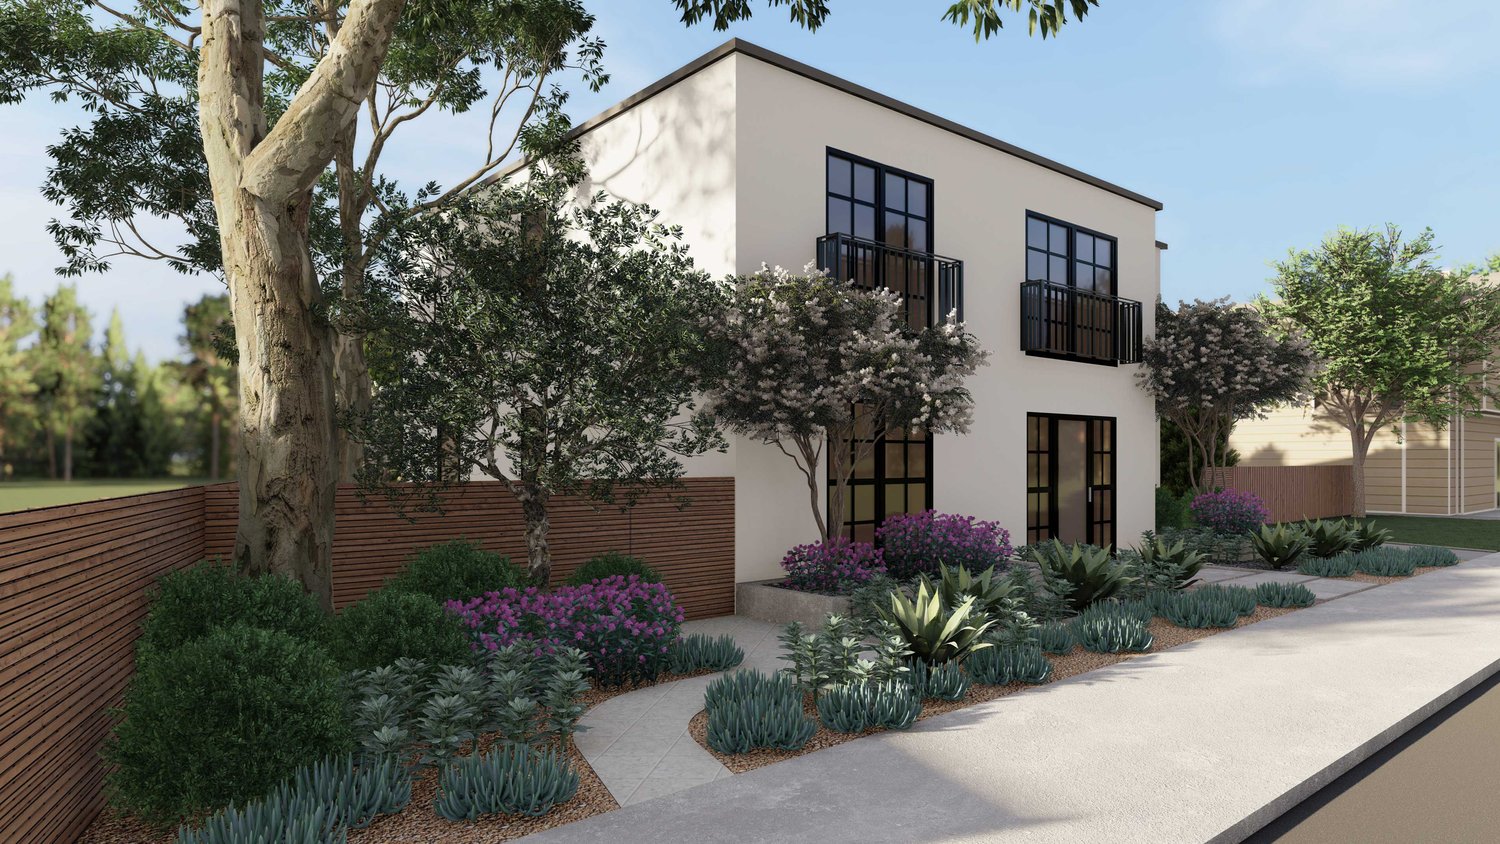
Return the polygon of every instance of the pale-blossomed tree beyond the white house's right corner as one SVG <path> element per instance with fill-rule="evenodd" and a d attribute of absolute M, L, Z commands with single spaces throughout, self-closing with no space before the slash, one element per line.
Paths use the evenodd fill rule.
<path fill-rule="evenodd" d="M 1194 465 L 1214 469 L 1234 423 L 1300 399 L 1314 369 L 1308 343 L 1276 336 L 1262 312 L 1228 298 L 1156 303 L 1156 336 L 1146 340 L 1137 373 L 1156 402 L 1156 415 L 1188 439 L 1188 477 L 1202 489 Z M 1196 460 L 1197 459 L 1197 460 Z"/>

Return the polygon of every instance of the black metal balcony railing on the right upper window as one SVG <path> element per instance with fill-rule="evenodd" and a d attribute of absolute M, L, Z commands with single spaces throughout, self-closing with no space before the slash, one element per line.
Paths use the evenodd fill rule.
<path fill-rule="evenodd" d="M 1054 282 L 1022 285 L 1022 351 L 1140 363 L 1140 303 Z"/>

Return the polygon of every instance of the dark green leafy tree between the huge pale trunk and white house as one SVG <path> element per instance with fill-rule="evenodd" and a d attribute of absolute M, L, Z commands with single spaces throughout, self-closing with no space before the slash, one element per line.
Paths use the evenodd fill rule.
<path fill-rule="evenodd" d="M 399 375 L 354 421 L 362 487 L 404 507 L 440 508 L 471 474 L 506 483 L 537 583 L 554 496 L 628 505 L 724 447 L 693 403 L 720 285 L 651 208 L 567 208 L 576 175 L 534 169 L 387 238 L 372 280 Z"/>

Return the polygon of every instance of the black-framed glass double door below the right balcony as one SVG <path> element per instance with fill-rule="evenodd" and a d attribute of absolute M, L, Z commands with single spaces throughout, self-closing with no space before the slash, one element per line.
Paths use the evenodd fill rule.
<path fill-rule="evenodd" d="M 1114 544 L 1114 420 L 1026 414 L 1026 541 Z"/>

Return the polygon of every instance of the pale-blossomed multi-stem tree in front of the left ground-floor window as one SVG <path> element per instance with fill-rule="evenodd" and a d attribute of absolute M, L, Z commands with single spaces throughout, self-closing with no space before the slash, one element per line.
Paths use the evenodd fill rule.
<path fill-rule="evenodd" d="M 796 463 L 822 538 L 837 535 L 854 468 L 884 441 L 884 433 L 855 439 L 866 414 L 932 433 L 969 429 L 964 379 L 988 354 L 956 313 L 933 328 L 908 327 L 900 295 L 836 280 L 813 264 L 800 274 L 762 267 L 736 279 L 729 295 L 711 328 L 723 372 L 706 411 Z M 826 516 L 819 505 L 825 447 Z"/>

